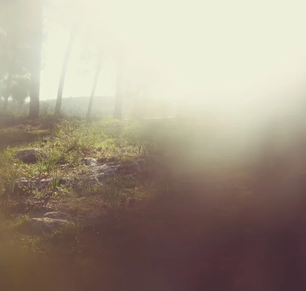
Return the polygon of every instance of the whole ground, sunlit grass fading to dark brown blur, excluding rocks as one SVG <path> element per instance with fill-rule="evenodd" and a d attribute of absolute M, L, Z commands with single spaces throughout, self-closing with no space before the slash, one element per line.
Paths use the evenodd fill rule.
<path fill-rule="evenodd" d="M 182 117 L 3 128 L 3 139 L 36 138 L 16 138 L 1 155 L 1 289 L 305 290 L 303 124 L 290 117 L 250 130 Z M 27 148 L 45 151 L 45 163 L 56 156 L 57 172 L 18 161 Z M 147 168 L 119 177 L 123 190 L 110 199 L 110 188 L 84 182 L 92 175 L 84 158 L 111 166 L 141 159 Z M 12 189 L 13 178 L 58 172 L 79 186 Z M 110 220 L 33 235 L 24 203 Z"/>

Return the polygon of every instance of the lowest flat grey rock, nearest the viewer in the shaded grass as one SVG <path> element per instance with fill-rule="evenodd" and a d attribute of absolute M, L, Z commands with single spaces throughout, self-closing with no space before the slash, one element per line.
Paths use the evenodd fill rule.
<path fill-rule="evenodd" d="M 58 230 L 63 226 L 72 225 L 73 223 L 66 219 L 54 218 L 32 218 L 28 224 L 28 230 L 32 234 L 50 233 L 53 230 Z"/>

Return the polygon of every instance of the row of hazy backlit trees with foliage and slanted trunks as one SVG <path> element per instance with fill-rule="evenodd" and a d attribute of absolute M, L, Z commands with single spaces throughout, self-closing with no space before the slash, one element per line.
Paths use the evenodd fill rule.
<path fill-rule="evenodd" d="M 80 5 L 82 2 L 76 1 L 75 4 Z M 54 112 L 56 117 L 60 117 L 65 75 L 75 36 L 86 36 L 87 41 L 90 38 L 96 39 L 99 37 L 91 35 L 89 27 L 84 28 L 84 23 L 86 23 L 86 21 L 82 21 L 84 15 L 73 13 L 67 15 L 67 9 L 70 9 L 70 7 L 65 7 L 65 5 L 65 2 L 61 1 L 47 2 L 43 0 L 6 0 L 0 4 L 0 97 L 3 99 L 2 113 L 6 113 L 9 99 L 24 103 L 25 99 L 30 97 L 28 117 L 29 119 L 39 118 L 41 50 L 45 39 L 44 23 L 50 21 L 60 23 L 64 29 L 71 32 L 63 60 Z M 78 11 L 82 11 L 82 9 Z M 111 40 L 104 38 L 104 41 L 109 42 Z M 101 42 L 96 46 L 96 54 L 92 57 L 96 58 L 97 65 L 88 105 L 88 120 L 91 118 L 95 89 L 103 63 L 104 43 Z M 122 51 L 123 47 L 118 45 L 111 55 L 116 64 L 114 118 L 117 119 L 122 118 L 124 76 L 124 55 Z"/>

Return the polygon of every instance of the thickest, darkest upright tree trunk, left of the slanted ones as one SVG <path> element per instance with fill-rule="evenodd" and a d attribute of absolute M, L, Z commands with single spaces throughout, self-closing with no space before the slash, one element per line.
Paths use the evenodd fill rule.
<path fill-rule="evenodd" d="M 41 43 L 42 43 L 42 13 L 43 5 L 41 0 L 34 1 L 35 19 L 32 19 L 33 38 L 31 47 L 31 85 L 30 85 L 30 110 L 29 119 L 39 117 L 39 90 L 40 90 L 40 69 L 41 69 Z"/>

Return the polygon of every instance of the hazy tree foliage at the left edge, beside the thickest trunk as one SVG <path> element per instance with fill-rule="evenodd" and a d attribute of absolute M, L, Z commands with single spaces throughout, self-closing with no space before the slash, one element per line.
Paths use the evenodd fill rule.
<path fill-rule="evenodd" d="M 8 101 L 24 102 L 29 95 L 29 32 L 28 18 L 22 1 L 6 2 L 0 10 L 0 97 L 4 112 Z"/>

